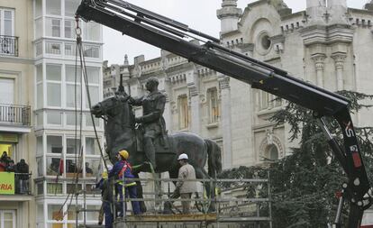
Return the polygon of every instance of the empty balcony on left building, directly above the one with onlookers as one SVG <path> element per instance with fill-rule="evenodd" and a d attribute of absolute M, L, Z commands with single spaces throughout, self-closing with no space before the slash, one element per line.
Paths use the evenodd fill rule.
<path fill-rule="evenodd" d="M 30 132 L 30 105 L 0 104 L 0 131 L 2 132 Z"/>

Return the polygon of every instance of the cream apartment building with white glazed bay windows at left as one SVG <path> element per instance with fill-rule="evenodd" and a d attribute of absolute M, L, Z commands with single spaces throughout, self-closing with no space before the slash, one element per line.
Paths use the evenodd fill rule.
<path fill-rule="evenodd" d="M 1 228 L 73 227 L 76 205 L 101 206 L 92 191 L 101 159 L 86 87 L 92 105 L 102 99 L 102 27 L 79 22 L 85 83 L 76 66 L 79 4 L 0 0 L 0 149 L 15 162 L 26 160 L 32 172 L 27 194 L 0 196 Z M 103 147 L 104 127 L 95 123 Z M 81 194 L 64 203 L 76 189 L 86 201 Z M 96 223 L 97 213 L 79 213 L 78 223 L 84 220 Z"/>

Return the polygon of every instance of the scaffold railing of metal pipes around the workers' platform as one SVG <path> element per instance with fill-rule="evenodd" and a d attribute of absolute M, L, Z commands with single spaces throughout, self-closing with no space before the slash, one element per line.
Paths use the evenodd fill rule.
<path fill-rule="evenodd" d="M 256 228 L 266 224 L 265 227 L 271 228 L 271 196 L 268 178 L 184 180 L 198 183 L 196 194 L 190 199 L 170 198 L 174 189 L 173 183 L 177 182 L 177 178 L 132 178 L 134 181 L 140 181 L 145 188 L 143 197 L 129 198 L 123 195 L 123 200 L 119 202 L 114 198 L 114 202 L 123 204 L 123 208 L 128 209 L 123 213 L 123 217 L 116 217 L 117 210 L 113 205 L 114 227 L 130 227 L 132 224 L 136 227 L 177 227 L 177 223 L 188 223 L 192 227 L 193 225 L 204 227 L 211 223 L 216 223 L 216 227 L 219 227 L 220 223 L 229 223 L 230 227 L 235 227 L 245 223 L 247 224 L 245 227 Z M 208 197 L 204 184 L 214 186 L 214 198 Z M 84 190 L 81 192 L 86 194 Z M 132 214 L 130 206 L 125 206 L 132 201 L 143 202 L 148 208 L 147 212 L 140 216 Z M 183 201 L 191 202 L 190 214 L 181 212 Z M 171 205 L 171 214 L 165 214 L 166 203 Z M 214 211 L 208 210 L 211 204 L 215 205 Z M 86 211 L 87 209 L 83 207 L 77 213 Z M 87 224 L 84 220 L 79 227 L 104 226 Z"/>

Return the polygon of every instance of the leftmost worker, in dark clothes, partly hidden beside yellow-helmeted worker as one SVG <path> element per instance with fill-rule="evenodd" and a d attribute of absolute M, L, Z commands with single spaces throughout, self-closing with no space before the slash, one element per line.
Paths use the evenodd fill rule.
<path fill-rule="evenodd" d="M 110 181 L 108 179 L 108 172 L 113 169 L 112 165 L 107 165 L 107 171 L 104 171 L 101 175 L 100 181 L 96 184 L 97 188 L 101 189 L 101 200 L 103 205 L 101 206 L 102 210 L 100 210 L 100 215 L 98 218 L 98 224 L 103 223 L 103 213 L 105 214 L 105 228 L 113 228 L 113 188 L 110 185 Z"/>

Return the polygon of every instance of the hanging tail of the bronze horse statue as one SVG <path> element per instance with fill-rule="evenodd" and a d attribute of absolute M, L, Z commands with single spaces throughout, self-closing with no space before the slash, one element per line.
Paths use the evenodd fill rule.
<path fill-rule="evenodd" d="M 222 172 L 222 150 L 215 141 L 205 140 L 208 154 L 208 175 L 216 178 L 216 174 Z"/>

